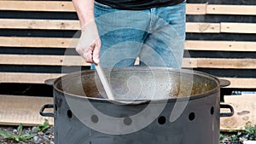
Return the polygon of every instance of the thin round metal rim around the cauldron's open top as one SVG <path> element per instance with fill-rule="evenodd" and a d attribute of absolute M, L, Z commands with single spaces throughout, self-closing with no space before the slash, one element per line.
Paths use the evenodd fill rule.
<path fill-rule="evenodd" d="M 104 71 L 119 71 L 119 70 L 125 70 L 125 71 L 138 71 L 138 70 L 148 70 L 148 68 L 146 66 L 129 66 L 129 67 L 115 67 L 113 69 L 105 69 Z M 187 95 L 187 96 L 182 96 L 182 97 L 170 97 L 169 99 L 155 99 L 155 100 L 139 100 L 139 101 L 134 101 L 131 102 L 132 103 L 149 103 L 149 102 L 155 102 L 155 103 L 161 103 L 161 102 L 175 102 L 175 101 L 191 101 L 191 100 L 195 100 L 195 99 L 200 99 L 202 97 L 207 97 L 209 95 L 215 94 L 217 92 L 219 92 L 220 89 L 220 80 L 218 78 L 216 78 L 215 76 L 208 74 L 206 72 L 199 72 L 199 71 L 195 71 L 195 70 L 189 70 L 189 69 L 175 69 L 175 68 L 166 68 L 166 67 L 150 67 L 150 70 L 157 70 L 157 71 L 172 71 L 172 72 L 182 72 L 185 74 L 193 74 L 193 75 L 197 75 L 197 76 L 201 76 L 204 78 L 209 78 L 212 81 L 214 81 L 216 85 L 215 88 L 205 92 L 205 93 L 201 93 L 201 94 L 196 94 L 196 95 Z M 74 78 L 74 77 L 80 77 L 84 74 L 89 74 L 89 73 L 93 73 L 96 72 L 96 70 L 84 70 L 84 71 L 79 71 L 79 72 L 71 72 L 68 73 L 66 75 L 63 75 L 59 78 L 56 78 L 54 83 L 53 83 L 53 88 L 54 90 L 56 90 L 58 93 L 60 94 L 64 94 L 65 96 L 72 96 L 72 97 L 77 97 L 77 98 L 81 98 L 81 99 L 85 99 L 85 100 L 89 100 L 89 101 L 95 101 L 95 102 L 121 102 L 118 100 L 108 100 L 108 99 L 102 99 L 102 98 L 96 98 L 96 97 L 86 97 L 86 96 L 82 96 L 82 95 L 74 95 L 74 94 L 70 94 L 66 91 L 63 91 L 61 89 L 59 89 L 57 87 L 57 84 L 61 83 L 61 81 L 63 80 L 67 80 L 68 78 Z M 121 102 L 122 103 L 122 102 Z"/>

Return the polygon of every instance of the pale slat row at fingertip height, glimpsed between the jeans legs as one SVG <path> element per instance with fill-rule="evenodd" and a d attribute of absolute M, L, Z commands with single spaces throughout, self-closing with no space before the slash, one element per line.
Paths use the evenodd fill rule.
<path fill-rule="evenodd" d="M 0 55 L 2 65 L 90 66 L 73 55 Z M 139 64 L 137 60 L 136 65 Z M 183 58 L 183 68 L 256 69 L 255 59 Z"/>

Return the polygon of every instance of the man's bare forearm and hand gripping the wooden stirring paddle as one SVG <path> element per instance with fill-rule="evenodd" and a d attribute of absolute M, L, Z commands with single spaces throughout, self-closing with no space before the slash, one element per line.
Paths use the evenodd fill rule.
<path fill-rule="evenodd" d="M 86 62 L 97 65 L 100 61 L 101 39 L 95 23 L 94 0 L 73 0 L 73 5 L 82 32 L 76 50 Z"/>

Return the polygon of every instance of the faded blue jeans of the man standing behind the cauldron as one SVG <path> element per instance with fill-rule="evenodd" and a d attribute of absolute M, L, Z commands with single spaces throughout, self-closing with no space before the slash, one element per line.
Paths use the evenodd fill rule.
<path fill-rule="evenodd" d="M 120 10 L 95 3 L 102 67 L 134 66 L 139 57 L 141 66 L 180 68 L 185 14 L 186 2 L 146 10 Z"/>

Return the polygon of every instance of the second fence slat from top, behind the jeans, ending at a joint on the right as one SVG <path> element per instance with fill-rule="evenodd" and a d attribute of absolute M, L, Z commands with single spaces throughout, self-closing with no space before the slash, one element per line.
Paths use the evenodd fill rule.
<path fill-rule="evenodd" d="M 2 29 L 80 30 L 79 20 L 0 19 Z M 187 22 L 186 32 L 219 33 L 219 23 Z"/>

